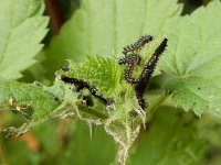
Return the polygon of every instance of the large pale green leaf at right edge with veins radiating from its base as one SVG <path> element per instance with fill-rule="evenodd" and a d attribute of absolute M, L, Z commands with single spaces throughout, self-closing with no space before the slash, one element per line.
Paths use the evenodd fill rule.
<path fill-rule="evenodd" d="M 169 34 L 161 69 L 170 77 L 167 88 L 186 111 L 208 110 L 221 117 L 221 2 L 213 1 L 186 16 Z M 207 23 L 206 23 L 207 22 Z"/>

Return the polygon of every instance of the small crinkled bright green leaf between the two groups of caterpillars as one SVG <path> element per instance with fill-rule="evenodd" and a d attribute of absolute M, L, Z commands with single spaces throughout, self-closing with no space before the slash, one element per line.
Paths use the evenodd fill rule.
<path fill-rule="evenodd" d="M 88 56 L 84 63 L 76 64 L 71 59 L 69 63 L 71 70 L 60 73 L 90 82 L 105 97 L 113 96 L 119 91 L 123 69 L 114 58 Z"/>

